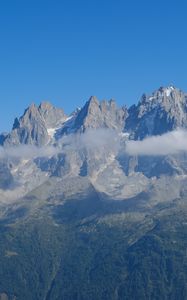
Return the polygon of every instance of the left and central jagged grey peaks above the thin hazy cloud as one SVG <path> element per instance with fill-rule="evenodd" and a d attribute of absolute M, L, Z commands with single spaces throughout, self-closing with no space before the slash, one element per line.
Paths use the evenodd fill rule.
<path fill-rule="evenodd" d="M 51 136 L 58 139 L 64 134 L 84 132 L 88 128 L 121 131 L 127 115 L 127 109 L 118 108 L 114 100 L 100 103 L 96 97 L 91 97 L 82 109 L 75 110 L 69 117 L 48 102 L 39 107 L 32 104 L 22 117 L 15 119 L 12 131 L 0 136 L 0 144 L 42 146 L 50 142 Z"/>

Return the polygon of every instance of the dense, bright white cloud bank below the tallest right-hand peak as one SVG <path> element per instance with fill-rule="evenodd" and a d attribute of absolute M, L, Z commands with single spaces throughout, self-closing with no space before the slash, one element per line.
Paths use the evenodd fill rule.
<path fill-rule="evenodd" d="M 187 151 L 187 131 L 175 130 L 160 136 L 152 136 L 142 141 L 128 141 L 126 153 L 129 155 L 169 155 Z"/>

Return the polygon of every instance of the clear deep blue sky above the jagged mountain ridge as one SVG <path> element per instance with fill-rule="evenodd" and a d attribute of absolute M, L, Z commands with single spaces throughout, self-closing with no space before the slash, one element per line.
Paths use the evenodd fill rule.
<path fill-rule="evenodd" d="M 0 0 L 0 131 L 31 103 L 187 91 L 186 0 Z"/>

